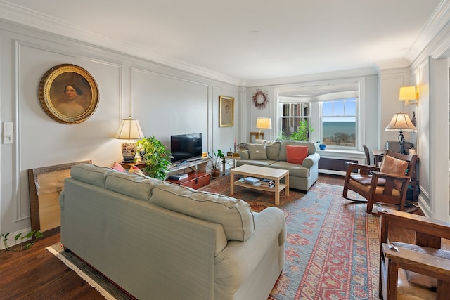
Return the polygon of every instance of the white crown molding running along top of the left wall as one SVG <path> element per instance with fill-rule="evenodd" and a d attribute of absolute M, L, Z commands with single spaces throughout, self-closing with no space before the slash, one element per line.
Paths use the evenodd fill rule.
<path fill-rule="evenodd" d="M 166 65 L 191 74 L 207 77 L 208 79 L 215 79 L 226 84 L 238 86 L 240 82 L 239 79 L 208 70 L 204 67 L 199 67 L 198 65 L 187 63 L 183 60 L 177 60 L 176 58 L 164 56 L 143 48 L 125 44 L 115 39 L 94 34 L 89 30 L 77 27 L 71 23 L 52 18 L 49 15 L 37 13 L 36 11 L 31 11 L 27 8 L 11 4 L 10 2 L 4 0 L 0 0 L 0 20 L 5 20 L 6 22 L 16 25 L 30 27 L 33 30 L 56 34 L 59 37 L 63 37 L 63 39 L 78 41 L 82 44 L 101 46 L 102 48 L 115 51 L 116 53 L 122 53 L 126 56 L 133 56 L 135 58 L 141 58 L 153 63 Z M 71 37 L 77 37 L 77 39 L 72 39 Z"/>

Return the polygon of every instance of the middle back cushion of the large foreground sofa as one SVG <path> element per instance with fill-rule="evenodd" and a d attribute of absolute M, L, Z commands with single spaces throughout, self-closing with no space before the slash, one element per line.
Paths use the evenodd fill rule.
<path fill-rule="evenodd" d="M 138 200 L 149 200 L 153 188 L 163 182 L 159 179 L 138 174 L 116 172 L 106 178 L 105 187 L 108 190 L 113 190 L 114 192 L 134 197 Z"/>

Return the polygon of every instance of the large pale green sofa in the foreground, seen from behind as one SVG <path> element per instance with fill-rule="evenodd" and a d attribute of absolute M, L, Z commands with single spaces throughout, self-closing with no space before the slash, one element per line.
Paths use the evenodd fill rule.
<path fill-rule="evenodd" d="M 264 299 L 285 263 L 285 216 L 233 197 L 78 164 L 61 242 L 138 299 Z"/>

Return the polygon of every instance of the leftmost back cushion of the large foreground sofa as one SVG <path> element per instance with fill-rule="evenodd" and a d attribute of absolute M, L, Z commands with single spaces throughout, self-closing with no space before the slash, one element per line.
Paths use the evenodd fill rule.
<path fill-rule="evenodd" d="M 70 168 L 70 176 L 84 183 L 105 187 L 109 174 L 116 171 L 107 167 L 98 167 L 95 164 L 77 164 Z"/>

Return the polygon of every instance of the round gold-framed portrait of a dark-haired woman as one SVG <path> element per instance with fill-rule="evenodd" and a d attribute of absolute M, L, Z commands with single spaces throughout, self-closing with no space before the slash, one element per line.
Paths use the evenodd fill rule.
<path fill-rule="evenodd" d="M 68 92 L 72 87 L 75 96 Z M 82 67 L 56 65 L 39 84 L 39 101 L 47 115 L 63 124 L 78 124 L 89 119 L 98 106 L 98 86 Z"/>

